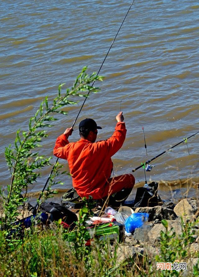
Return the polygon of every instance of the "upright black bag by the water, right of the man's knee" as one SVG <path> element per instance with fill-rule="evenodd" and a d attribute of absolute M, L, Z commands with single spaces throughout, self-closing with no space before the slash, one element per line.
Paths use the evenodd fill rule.
<path fill-rule="evenodd" d="M 152 182 L 137 188 L 136 197 L 134 200 L 134 207 L 155 207 L 161 201 L 160 196 L 157 195 L 158 183 Z"/>

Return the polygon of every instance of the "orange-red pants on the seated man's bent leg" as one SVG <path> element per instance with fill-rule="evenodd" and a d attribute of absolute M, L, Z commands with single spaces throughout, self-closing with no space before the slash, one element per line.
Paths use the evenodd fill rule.
<path fill-rule="evenodd" d="M 135 185 L 135 178 L 132 174 L 124 174 L 117 177 L 109 178 L 104 185 L 102 198 L 109 197 L 122 189 L 130 189 Z"/>

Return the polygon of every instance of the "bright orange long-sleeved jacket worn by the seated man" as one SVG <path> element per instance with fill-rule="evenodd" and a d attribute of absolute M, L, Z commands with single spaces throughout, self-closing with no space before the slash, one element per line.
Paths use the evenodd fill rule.
<path fill-rule="evenodd" d="M 81 197 L 101 198 L 113 168 L 111 157 L 122 147 L 126 132 L 125 123 L 118 122 L 106 140 L 92 143 L 81 138 L 69 143 L 67 135 L 57 138 L 53 154 L 68 161 L 73 187 Z"/>

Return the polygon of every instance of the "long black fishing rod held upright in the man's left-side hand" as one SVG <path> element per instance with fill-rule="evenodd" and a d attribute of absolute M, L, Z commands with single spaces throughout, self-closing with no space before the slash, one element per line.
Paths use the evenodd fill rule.
<path fill-rule="evenodd" d="M 113 41 L 112 41 L 112 43 L 111 43 L 111 46 L 109 47 L 109 50 L 108 50 L 108 52 L 107 52 L 107 54 L 106 54 L 106 56 L 105 56 L 105 58 L 104 58 L 104 60 L 103 60 L 103 62 L 102 62 L 102 64 L 101 64 L 101 66 L 100 66 L 100 68 L 99 68 L 98 73 L 97 73 L 96 76 L 98 76 L 98 74 L 99 74 L 99 72 L 100 72 L 100 70 L 101 70 L 101 68 L 102 68 L 102 66 L 103 66 L 103 64 L 104 64 L 104 62 L 105 62 L 105 59 L 107 58 L 107 56 L 108 56 L 108 54 L 109 54 L 109 51 L 110 51 L 110 49 L 111 49 L 111 47 L 112 47 L 112 45 L 113 45 L 113 43 L 114 43 L 114 41 L 115 41 L 115 39 L 116 39 L 116 37 L 117 37 L 119 31 L 120 31 L 120 29 L 121 29 L 121 27 L 122 27 L 122 25 L 123 25 L 123 23 L 124 23 L 124 21 L 125 21 L 125 19 L 126 19 L 126 17 L 127 17 L 128 12 L 130 11 L 130 9 L 131 9 L 132 4 L 133 4 L 134 1 L 135 1 L 135 0 L 132 1 L 131 5 L 130 5 L 130 7 L 129 7 L 129 9 L 128 9 L 128 11 L 127 11 L 127 13 L 126 13 L 124 19 L 123 19 L 123 21 L 122 21 L 122 24 L 120 25 L 120 27 L 119 27 L 119 29 L 118 29 L 118 32 L 117 32 L 117 34 L 115 35 L 115 37 L 114 37 L 114 39 L 113 39 Z M 93 81 L 91 87 L 93 87 L 94 83 L 95 83 L 95 80 Z M 81 108 L 80 108 L 80 110 L 79 110 L 79 112 L 78 112 L 78 114 L 77 114 L 77 116 L 76 116 L 76 119 L 75 119 L 75 121 L 74 121 L 73 124 L 72 124 L 72 128 L 74 127 L 74 125 L 75 125 L 75 123 L 76 123 L 76 121 L 77 121 L 77 118 L 78 118 L 78 116 L 79 116 L 79 114 L 80 114 L 80 112 L 81 112 L 81 110 L 82 110 L 82 108 L 83 108 L 83 106 L 84 106 L 84 104 L 85 104 L 85 102 L 86 102 L 87 97 L 89 96 L 89 93 L 90 93 L 90 91 L 87 93 L 87 95 L 86 95 L 86 97 L 85 97 L 85 100 L 84 100 L 84 102 L 83 102 L 83 104 L 82 104 L 82 106 L 81 106 Z M 45 188 L 46 188 L 46 186 L 47 186 L 47 184 L 48 184 L 48 182 L 49 182 L 50 176 L 51 176 L 52 173 L 53 173 L 53 170 L 54 170 L 54 168 L 55 168 L 55 165 L 56 165 L 57 162 L 58 162 L 58 159 L 59 159 L 59 158 L 57 158 L 56 162 L 54 163 L 53 168 L 52 168 L 52 170 L 51 170 L 51 172 L 50 172 L 50 174 L 49 174 L 49 177 L 48 177 L 48 179 L 47 179 L 47 181 L 46 181 L 46 183 L 45 183 L 45 185 L 44 185 L 44 188 L 43 188 L 41 194 L 39 195 L 39 198 L 38 198 L 38 200 L 37 200 L 37 203 L 36 203 L 36 205 L 35 205 L 35 208 L 33 209 L 33 214 L 35 214 L 35 213 L 37 212 L 38 202 L 39 202 L 39 200 L 41 199 L 41 196 L 42 196 L 42 194 L 43 194 L 43 192 L 44 192 L 44 190 L 45 190 Z"/>

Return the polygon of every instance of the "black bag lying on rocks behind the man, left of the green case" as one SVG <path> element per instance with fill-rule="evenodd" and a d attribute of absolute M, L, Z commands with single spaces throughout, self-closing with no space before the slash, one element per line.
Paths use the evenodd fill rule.
<path fill-rule="evenodd" d="M 67 209 L 64 206 L 61 206 L 57 203 L 42 203 L 41 208 L 44 209 L 47 213 L 52 215 L 53 220 L 62 219 L 68 225 L 72 224 L 74 221 L 77 221 L 77 216 L 71 210 Z"/>

